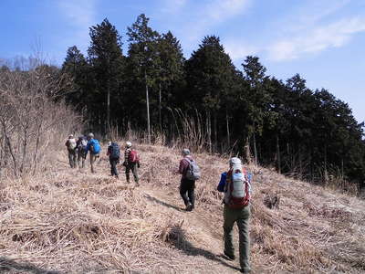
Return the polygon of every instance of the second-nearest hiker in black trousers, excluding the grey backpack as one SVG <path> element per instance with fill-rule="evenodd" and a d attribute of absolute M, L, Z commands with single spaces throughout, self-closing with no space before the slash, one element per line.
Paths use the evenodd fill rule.
<path fill-rule="evenodd" d="M 190 154 L 189 149 L 183 149 L 183 159 L 179 164 L 179 174 L 182 174 L 182 180 L 180 183 L 180 195 L 182 195 L 183 203 L 186 206 L 186 211 L 192 211 L 195 205 L 195 181 L 186 178 L 186 173 L 190 166 L 190 161 L 193 161 L 193 157 Z"/>

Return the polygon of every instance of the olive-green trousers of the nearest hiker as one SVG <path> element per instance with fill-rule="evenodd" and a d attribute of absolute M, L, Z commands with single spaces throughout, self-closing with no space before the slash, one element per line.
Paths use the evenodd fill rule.
<path fill-rule="evenodd" d="M 237 223 L 239 233 L 239 259 L 241 269 L 249 272 L 250 268 L 250 236 L 248 232 L 250 221 L 250 205 L 240 209 L 233 209 L 224 205 L 224 251 L 230 256 L 235 255 L 233 245 L 233 228 Z"/>

